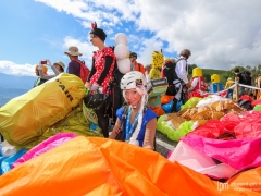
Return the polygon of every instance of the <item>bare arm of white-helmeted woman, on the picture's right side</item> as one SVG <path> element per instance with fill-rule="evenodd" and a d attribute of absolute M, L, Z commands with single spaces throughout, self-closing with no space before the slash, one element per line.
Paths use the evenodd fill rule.
<path fill-rule="evenodd" d="M 154 137 L 156 137 L 156 126 L 157 119 L 153 118 L 146 124 L 145 139 L 144 139 L 144 148 L 154 149 Z"/>

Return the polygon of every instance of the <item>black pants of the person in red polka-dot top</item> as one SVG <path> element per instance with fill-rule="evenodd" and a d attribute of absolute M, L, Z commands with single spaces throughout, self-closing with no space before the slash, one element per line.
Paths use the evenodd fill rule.
<path fill-rule="evenodd" d="M 103 136 L 109 137 L 109 117 L 105 112 L 105 102 L 103 102 L 99 109 L 95 110 L 95 112 L 98 119 L 98 125 L 100 126 Z"/>

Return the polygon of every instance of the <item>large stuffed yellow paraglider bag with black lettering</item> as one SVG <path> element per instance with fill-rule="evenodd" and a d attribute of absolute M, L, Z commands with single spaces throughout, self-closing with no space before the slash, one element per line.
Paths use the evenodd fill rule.
<path fill-rule="evenodd" d="M 23 147 L 67 115 L 85 96 L 75 75 L 62 73 L 0 108 L 0 133 L 9 144 Z"/>

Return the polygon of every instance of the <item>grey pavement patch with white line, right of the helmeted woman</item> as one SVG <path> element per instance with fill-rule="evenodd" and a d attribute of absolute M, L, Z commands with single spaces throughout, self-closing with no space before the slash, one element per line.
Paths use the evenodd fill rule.
<path fill-rule="evenodd" d="M 156 151 L 166 157 L 170 150 L 174 150 L 177 145 L 177 142 L 169 139 L 161 132 L 156 133 Z"/>

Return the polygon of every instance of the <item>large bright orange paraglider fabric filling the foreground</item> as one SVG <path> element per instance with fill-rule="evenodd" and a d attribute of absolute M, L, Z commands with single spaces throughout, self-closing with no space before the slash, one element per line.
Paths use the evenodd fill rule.
<path fill-rule="evenodd" d="M 0 195 L 153 196 L 175 193 L 199 196 L 233 193 L 231 189 L 220 193 L 216 187 L 216 182 L 177 162 L 172 163 L 152 150 L 83 136 L 0 176 Z"/>

